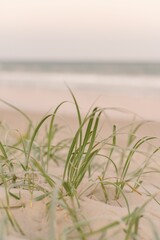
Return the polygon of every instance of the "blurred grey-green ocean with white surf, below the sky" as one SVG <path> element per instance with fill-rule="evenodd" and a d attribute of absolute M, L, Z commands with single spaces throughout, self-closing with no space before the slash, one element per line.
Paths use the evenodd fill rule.
<path fill-rule="evenodd" d="M 0 87 L 65 88 L 160 95 L 160 63 L 0 62 Z"/>

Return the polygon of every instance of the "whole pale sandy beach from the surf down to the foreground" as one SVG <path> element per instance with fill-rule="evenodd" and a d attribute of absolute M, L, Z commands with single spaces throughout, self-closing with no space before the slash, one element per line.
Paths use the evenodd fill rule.
<path fill-rule="evenodd" d="M 9 188 L 7 191 L 11 190 L 12 192 L 12 196 L 9 195 L 9 206 L 7 205 L 8 200 L 5 189 L 2 185 L 0 186 L 0 219 L 2 225 L 5 226 L 6 224 L 7 226 L 2 227 L 4 229 L 0 228 L 1 234 L 3 233 L 3 239 L 159 239 L 160 190 L 158 183 L 160 181 L 160 154 L 158 147 L 160 143 L 160 112 L 158 110 L 160 98 L 153 95 L 137 95 L 136 93 L 129 96 L 127 93 L 118 95 L 106 94 L 104 91 L 85 92 L 84 90 L 75 90 L 74 94 L 83 116 L 92 104 L 106 108 L 100 122 L 98 136 L 100 140 L 106 138 L 109 139 L 109 143 L 112 142 L 112 139 L 109 137 L 112 134 L 113 125 L 117 126 L 116 145 L 119 151 L 113 153 L 112 159 L 120 168 L 123 165 L 122 163 L 120 165 L 120 156 L 122 156 L 120 154 L 122 154 L 122 149 L 124 150 L 126 147 L 128 134 L 133 124 L 136 126 L 136 124 L 146 121 L 135 133 L 137 140 L 124 151 L 126 156 L 129 156 L 127 155 L 129 154 L 128 152 L 132 152 L 136 141 L 143 137 L 153 136 L 157 137 L 157 139 L 147 140 L 147 143 L 142 144 L 144 146 L 137 149 L 137 151 L 134 150 L 136 153 L 133 153 L 125 186 L 119 197 L 115 197 L 115 178 L 117 175 L 112 164 L 110 164 L 111 166 L 109 166 L 105 175 L 104 185 L 101 185 L 100 179 L 102 179 L 102 171 L 104 170 L 106 159 L 101 159 L 98 156 L 94 160 L 95 166 L 91 176 L 88 178 L 86 173 L 77 188 L 77 202 L 76 199 L 70 198 L 65 193 L 63 201 L 53 197 L 62 187 L 60 179 L 63 177 L 63 161 L 60 161 L 59 164 L 56 161 L 50 161 L 48 175 L 57 183 L 57 187 L 53 189 L 53 192 L 51 191 L 51 186 L 47 185 L 42 172 L 38 172 L 38 170 L 35 173 L 32 172 L 37 186 L 52 192 L 50 196 L 46 196 L 39 201 L 35 199 L 41 196 L 43 192 L 40 187 L 35 188 L 33 191 L 22 186 L 18 187 L 18 183 L 20 184 L 20 179 L 22 179 L 22 171 L 18 167 L 16 172 L 15 167 L 14 174 L 17 177 L 17 185 L 16 183 L 14 185 L 13 182 L 6 183 Z M 62 106 L 56 116 L 56 123 L 64 127 L 55 142 L 67 137 L 73 137 L 78 128 L 75 105 L 68 90 L 44 91 L 43 89 L 28 88 L 24 90 L 22 88 L 17 89 L 13 87 L 9 89 L 2 87 L 0 96 L 1 99 L 26 112 L 32 119 L 34 126 L 47 113 L 53 112 L 60 102 L 69 101 Z M 27 121 L 24 116 L 2 102 L 0 103 L 0 116 L 2 126 L 1 141 L 3 143 L 7 144 L 10 141 L 10 134 L 12 135 L 15 129 L 22 134 L 25 133 Z M 5 132 L 4 129 L 7 128 L 9 130 Z M 45 131 L 45 128 L 43 128 L 43 131 Z M 14 136 L 12 137 L 14 138 Z M 104 155 L 108 154 L 107 146 L 102 150 Z M 1 155 L 3 155 L 2 148 L 0 151 Z M 67 154 L 67 151 L 65 154 Z M 63 157 L 66 158 L 65 156 Z M 39 159 L 37 158 L 36 160 L 38 161 Z M 138 173 L 141 173 L 140 179 L 138 178 Z M 103 187 L 105 187 L 107 192 L 107 200 Z M 64 192 L 64 189 L 62 191 Z M 16 199 L 13 193 L 16 196 L 20 196 L 20 198 Z M 50 201 L 53 204 L 51 204 L 48 211 L 48 203 Z M 68 209 L 75 209 L 76 218 L 74 218 L 74 215 L 71 214 L 66 206 L 68 206 Z M 4 211 L 5 208 L 8 209 L 8 215 Z M 20 232 L 15 223 L 10 224 L 6 220 L 6 216 L 12 215 L 18 222 L 20 229 L 23 230 L 23 233 Z M 109 225 L 112 223 L 113 227 L 109 228 Z M 135 230 L 136 227 L 138 230 Z M 131 234 L 127 236 L 127 232 Z M 83 235 L 83 233 L 86 233 L 86 235 Z M 66 236 L 69 237 L 65 238 Z"/>

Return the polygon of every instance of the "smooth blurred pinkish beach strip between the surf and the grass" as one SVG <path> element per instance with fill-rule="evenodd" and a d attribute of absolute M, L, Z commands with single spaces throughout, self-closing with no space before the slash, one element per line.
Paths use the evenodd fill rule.
<path fill-rule="evenodd" d="M 160 96 L 158 94 L 143 93 L 143 92 L 117 92 L 114 90 L 85 90 L 77 89 L 70 86 L 74 92 L 77 101 L 79 102 L 82 113 L 92 106 L 101 106 L 104 108 L 124 109 L 128 112 L 139 115 L 144 120 L 160 120 L 159 107 Z M 71 95 L 64 85 L 63 88 L 36 88 L 36 87 L 14 87 L 1 86 L 1 99 L 12 103 L 13 105 L 33 113 L 46 113 L 50 109 L 54 109 L 62 101 L 73 102 Z M 43 96 L 43 97 L 42 97 Z M 42 99 L 43 98 L 43 99 Z M 6 105 L 1 104 L 1 108 L 6 108 Z M 66 114 L 74 114 L 74 106 L 63 108 Z M 115 113 L 117 117 L 118 113 Z M 121 118 L 123 114 L 118 114 Z M 126 119 L 126 115 L 124 118 Z M 122 117 L 123 118 L 123 117 Z"/>

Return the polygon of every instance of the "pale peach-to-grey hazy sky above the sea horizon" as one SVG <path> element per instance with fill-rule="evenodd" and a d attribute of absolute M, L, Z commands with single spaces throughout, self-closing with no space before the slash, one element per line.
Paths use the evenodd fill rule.
<path fill-rule="evenodd" d="M 0 0 L 0 60 L 160 61 L 160 0 Z"/>

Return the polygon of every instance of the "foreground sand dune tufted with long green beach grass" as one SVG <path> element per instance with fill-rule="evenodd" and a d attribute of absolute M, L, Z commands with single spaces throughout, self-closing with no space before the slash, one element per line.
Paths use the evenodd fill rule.
<path fill-rule="evenodd" d="M 150 239 L 159 239 L 154 217 L 153 221 L 148 217 L 151 214 L 148 206 L 153 204 L 155 209 L 159 208 L 160 190 L 154 181 L 149 188 L 146 186 L 146 178 L 160 172 L 159 139 L 138 135 L 145 122 L 136 120 L 123 128 L 113 123 L 111 132 L 106 132 L 106 137 L 102 138 L 104 123 L 108 124 L 107 109 L 93 107 L 83 116 L 76 97 L 69 91 L 78 127 L 73 136 L 62 134 L 60 140 L 57 134 L 63 128 L 56 118 L 68 102 L 60 103 L 34 126 L 22 110 L 1 100 L 27 122 L 25 134 L 3 123 L 0 125 L 2 239 L 18 236 L 33 240 L 147 240 L 147 237 L 142 238 L 146 226 Z M 123 145 L 120 137 L 124 137 Z M 39 217 L 36 221 L 41 230 L 35 228 L 34 233 L 27 230 L 26 224 L 30 219 L 28 225 L 33 222 L 33 227 L 37 226 L 35 216 L 31 214 L 23 222 L 19 215 L 22 217 L 27 209 L 34 212 L 36 204 L 41 204 L 39 212 L 44 206 L 44 226 L 40 227 L 42 219 Z M 159 219 L 157 222 L 160 224 Z"/>

